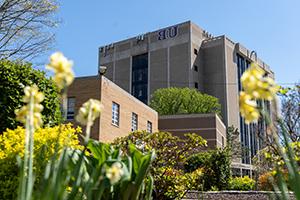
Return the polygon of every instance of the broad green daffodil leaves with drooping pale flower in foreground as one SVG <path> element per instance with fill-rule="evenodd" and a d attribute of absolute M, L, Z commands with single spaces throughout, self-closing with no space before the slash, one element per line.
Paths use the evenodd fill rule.
<path fill-rule="evenodd" d="M 87 149 L 65 149 L 49 163 L 36 199 L 150 199 L 153 178 L 149 168 L 155 153 L 142 153 L 129 145 L 128 155 L 119 148 L 90 140 Z M 47 171 L 46 171 L 47 172 Z"/>

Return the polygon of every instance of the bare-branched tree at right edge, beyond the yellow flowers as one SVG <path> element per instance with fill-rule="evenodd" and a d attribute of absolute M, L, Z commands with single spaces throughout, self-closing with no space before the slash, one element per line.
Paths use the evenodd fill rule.
<path fill-rule="evenodd" d="M 300 142 L 300 84 L 282 95 L 283 123 L 293 142 Z"/>

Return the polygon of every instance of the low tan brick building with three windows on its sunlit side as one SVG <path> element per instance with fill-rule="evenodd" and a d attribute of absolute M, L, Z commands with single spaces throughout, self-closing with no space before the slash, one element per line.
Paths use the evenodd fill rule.
<path fill-rule="evenodd" d="M 95 120 L 91 137 L 112 142 L 132 131 L 158 130 L 157 112 L 104 76 L 79 77 L 68 88 L 67 120 L 76 125 L 79 108 L 89 99 L 101 101 L 103 109 Z"/>

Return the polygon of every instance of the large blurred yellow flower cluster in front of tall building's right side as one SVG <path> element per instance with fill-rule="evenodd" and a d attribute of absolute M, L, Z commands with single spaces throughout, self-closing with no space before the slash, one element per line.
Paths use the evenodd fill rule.
<path fill-rule="evenodd" d="M 256 99 L 273 100 L 279 86 L 270 77 L 264 77 L 265 71 L 256 63 L 245 71 L 241 77 L 244 91 Z"/>

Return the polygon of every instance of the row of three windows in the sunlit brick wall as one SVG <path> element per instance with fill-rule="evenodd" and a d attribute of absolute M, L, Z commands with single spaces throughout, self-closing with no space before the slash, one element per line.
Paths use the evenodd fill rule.
<path fill-rule="evenodd" d="M 112 103 L 112 124 L 119 126 L 120 124 L 120 105 L 116 102 Z M 131 131 L 138 130 L 138 115 L 136 113 L 131 114 Z M 147 132 L 152 133 L 152 122 L 147 121 Z"/>

